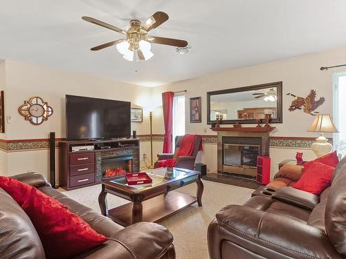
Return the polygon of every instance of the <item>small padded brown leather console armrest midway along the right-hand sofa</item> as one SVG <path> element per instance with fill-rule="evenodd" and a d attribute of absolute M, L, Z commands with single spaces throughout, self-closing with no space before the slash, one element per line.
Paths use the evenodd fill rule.
<path fill-rule="evenodd" d="M 276 189 L 271 198 L 309 211 L 320 203 L 320 196 L 288 186 Z"/>

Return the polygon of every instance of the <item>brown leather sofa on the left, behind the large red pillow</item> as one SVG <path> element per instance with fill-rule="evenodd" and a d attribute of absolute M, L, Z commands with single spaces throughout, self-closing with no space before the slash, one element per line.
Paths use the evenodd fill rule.
<path fill-rule="evenodd" d="M 35 186 L 39 191 L 59 200 L 70 211 L 88 222 L 95 231 L 109 238 L 104 244 L 78 255 L 76 258 L 175 258 L 173 236 L 159 224 L 140 222 L 124 228 L 51 188 L 46 178 L 39 173 L 24 173 L 15 175 L 13 178 Z M 46 258 L 42 243 L 30 219 L 19 204 L 1 188 L 0 258 Z"/>

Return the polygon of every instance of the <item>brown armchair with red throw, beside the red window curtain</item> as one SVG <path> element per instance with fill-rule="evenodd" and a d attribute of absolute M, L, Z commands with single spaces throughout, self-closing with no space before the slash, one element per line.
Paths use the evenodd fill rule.
<path fill-rule="evenodd" d="M 174 153 L 159 153 L 157 154 L 158 161 L 166 160 L 166 159 L 176 159 L 176 166 L 182 169 L 190 169 L 194 170 L 194 162 L 197 157 L 197 153 L 199 151 L 199 144 L 201 143 L 201 136 L 197 136 L 194 140 L 194 151 L 191 156 L 177 157 L 177 153 L 179 151 L 181 140 L 183 140 L 184 136 L 176 136 L 175 137 L 175 150 Z M 158 161 L 155 162 L 155 168 L 157 167 Z"/>

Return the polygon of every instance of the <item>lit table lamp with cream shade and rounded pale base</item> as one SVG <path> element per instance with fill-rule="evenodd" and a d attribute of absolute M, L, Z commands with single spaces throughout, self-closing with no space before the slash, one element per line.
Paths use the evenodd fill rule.
<path fill-rule="evenodd" d="M 331 146 L 331 144 L 328 143 L 327 138 L 323 135 L 323 133 L 325 132 L 338 132 L 336 126 L 334 126 L 333 120 L 331 119 L 331 115 L 316 115 L 316 117 L 313 119 L 311 126 L 307 131 L 320 133 L 320 137 L 318 137 L 316 139 L 316 142 L 314 142 L 311 145 L 313 153 L 315 153 L 318 157 L 321 157 L 322 155 L 327 155 L 327 153 L 330 153 L 333 150 L 333 146 Z"/>

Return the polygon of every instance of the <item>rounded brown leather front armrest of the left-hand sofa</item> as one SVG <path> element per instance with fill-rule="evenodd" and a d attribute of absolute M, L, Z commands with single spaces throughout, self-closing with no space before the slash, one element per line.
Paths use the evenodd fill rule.
<path fill-rule="evenodd" d="M 165 227 L 139 222 L 115 233 L 98 247 L 76 258 L 102 259 L 174 259 L 173 236 Z"/>

